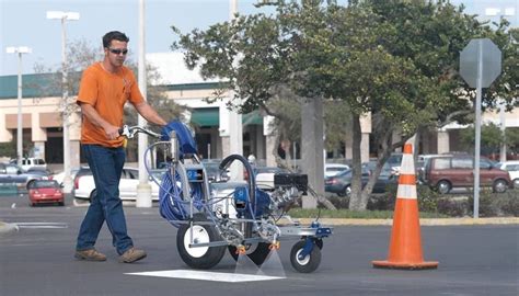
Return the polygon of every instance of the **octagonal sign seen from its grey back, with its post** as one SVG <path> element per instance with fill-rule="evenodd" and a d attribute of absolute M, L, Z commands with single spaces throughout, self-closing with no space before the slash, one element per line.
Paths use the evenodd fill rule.
<path fill-rule="evenodd" d="M 471 39 L 461 50 L 460 75 L 476 89 L 474 151 L 474 218 L 480 217 L 481 92 L 501 72 L 501 52 L 488 38 Z"/>

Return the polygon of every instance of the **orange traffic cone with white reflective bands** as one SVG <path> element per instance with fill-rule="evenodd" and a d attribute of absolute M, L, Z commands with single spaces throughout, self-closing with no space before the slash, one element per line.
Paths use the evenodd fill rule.
<path fill-rule="evenodd" d="M 438 262 L 424 262 L 419 231 L 418 200 L 416 197 L 416 174 L 413 160 L 413 145 L 404 146 L 400 169 L 396 205 L 393 216 L 393 228 L 385 261 L 372 261 L 373 267 L 380 269 L 436 269 Z"/>

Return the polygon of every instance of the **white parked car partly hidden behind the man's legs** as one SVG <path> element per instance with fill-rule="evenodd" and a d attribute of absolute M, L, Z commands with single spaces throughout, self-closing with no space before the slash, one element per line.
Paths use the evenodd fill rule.
<path fill-rule="evenodd" d="M 81 172 L 81 175 L 79 173 Z M 78 177 L 79 175 L 79 177 Z M 134 168 L 124 168 L 119 181 L 119 197 L 122 201 L 135 201 L 137 197 L 137 185 L 139 184 L 139 170 Z M 149 182 L 151 185 L 152 201 L 159 201 L 159 185 L 155 182 Z M 90 169 L 83 168 L 78 171 L 74 178 L 73 195 L 80 200 L 91 200 L 96 194 L 94 178 Z"/>

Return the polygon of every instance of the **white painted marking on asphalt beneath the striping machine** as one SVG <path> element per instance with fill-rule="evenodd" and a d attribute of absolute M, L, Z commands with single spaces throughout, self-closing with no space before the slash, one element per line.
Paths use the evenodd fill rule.
<path fill-rule="evenodd" d="M 257 282 L 257 281 L 272 281 L 272 280 L 286 278 L 286 277 L 279 277 L 279 276 L 237 274 L 237 273 L 222 273 L 222 272 L 203 272 L 203 271 L 189 271 L 189 270 L 134 272 L 134 273 L 125 273 L 125 274 L 226 282 L 226 283 Z"/>

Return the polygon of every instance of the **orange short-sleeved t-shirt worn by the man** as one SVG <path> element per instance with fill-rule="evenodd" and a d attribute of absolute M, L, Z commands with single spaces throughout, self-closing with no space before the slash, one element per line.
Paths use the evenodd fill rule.
<path fill-rule="evenodd" d="M 84 70 L 79 88 L 78 104 L 92 105 L 103 119 L 123 127 L 126 101 L 130 101 L 134 105 L 145 101 L 130 69 L 123 66 L 116 73 L 111 73 L 103 69 L 101 62 L 96 62 Z M 123 137 L 108 139 L 103 128 L 93 125 L 83 116 L 81 144 L 120 147 L 123 141 Z"/>

